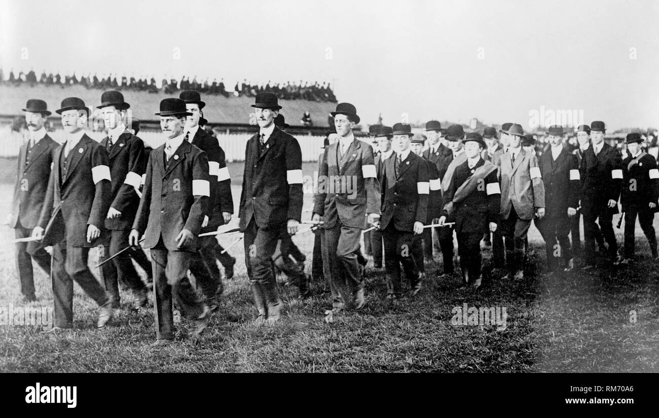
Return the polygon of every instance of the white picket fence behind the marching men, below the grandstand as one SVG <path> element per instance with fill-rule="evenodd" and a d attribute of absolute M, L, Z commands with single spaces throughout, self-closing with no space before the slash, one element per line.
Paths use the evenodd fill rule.
<path fill-rule="evenodd" d="M 96 141 L 103 139 L 105 134 L 102 132 L 90 132 L 87 134 Z M 60 144 L 65 140 L 65 132 L 61 129 L 49 132 L 49 136 Z M 162 134 L 159 132 L 146 132 L 142 131 L 138 134 L 140 138 L 149 147 L 156 148 L 165 142 Z M 251 134 L 219 134 L 217 141 L 225 153 L 227 162 L 243 161 L 245 155 L 245 145 Z M 27 132 L 21 134 L 20 132 L 13 132 L 9 127 L 0 130 L 0 157 L 16 157 L 20 145 L 24 144 L 27 140 Z M 320 154 L 323 145 L 323 136 L 298 136 L 297 140 L 302 150 L 302 161 L 318 161 L 318 154 Z"/>

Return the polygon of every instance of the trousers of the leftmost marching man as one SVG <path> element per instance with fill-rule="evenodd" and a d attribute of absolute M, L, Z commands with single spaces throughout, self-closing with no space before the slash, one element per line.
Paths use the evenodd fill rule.
<path fill-rule="evenodd" d="M 14 229 L 16 238 L 32 236 L 32 230 L 16 225 Z M 20 293 L 28 300 L 34 296 L 34 271 L 32 260 L 50 276 L 50 254 L 38 242 L 16 242 L 16 269 L 20 278 Z"/>

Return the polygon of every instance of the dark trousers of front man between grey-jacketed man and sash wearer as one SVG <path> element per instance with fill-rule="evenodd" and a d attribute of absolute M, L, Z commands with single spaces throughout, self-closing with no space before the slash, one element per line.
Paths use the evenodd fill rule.
<path fill-rule="evenodd" d="M 384 229 L 382 234 L 384 238 L 384 265 L 387 275 L 387 294 L 399 296 L 403 293 L 401 287 L 401 264 L 407 280 L 412 287 L 416 286 L 419 280 L 419 269 L 416 265 L 414 249 L 420 248 L 415 241 L 420 240 L 420 236 L 415 236 L 414 232 L 399 231 L 393 226 L 393 221 Z M 423 257 L 421 257 L 423 260 Z"/>

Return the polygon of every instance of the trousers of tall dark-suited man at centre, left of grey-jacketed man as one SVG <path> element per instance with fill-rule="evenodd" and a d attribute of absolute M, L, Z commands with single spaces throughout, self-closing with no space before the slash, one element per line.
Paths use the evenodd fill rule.
<path fill-rule="evenodd" d="M 266 312 L 266 305 L 279 303 L 272 255 L 277 248 L 281 227 L 259 228 L 252 218 L 244 230 L 244 251 L 247 276 L 252 284 L 256 309 Z"/>

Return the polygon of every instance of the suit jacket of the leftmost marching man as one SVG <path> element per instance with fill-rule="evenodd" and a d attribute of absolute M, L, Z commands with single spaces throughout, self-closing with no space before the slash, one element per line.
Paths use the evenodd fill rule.
<path fill-rule="evenodd" d="M 48 178 L 55 161 L 55 150 L 59 147 L 47 134 L 30 151 L 30 160 L 25 164 L 28 144 L 22 145 L 18 153 L 16 187 L 11 206 L 9 226 L 32 229 L 37 226 L 43 209 Z"/>

